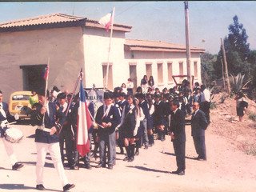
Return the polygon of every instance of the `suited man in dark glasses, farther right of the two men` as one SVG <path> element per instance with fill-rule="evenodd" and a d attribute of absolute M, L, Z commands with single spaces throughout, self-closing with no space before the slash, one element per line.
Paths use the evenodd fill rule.
<path fill-rule="evenodd" d="M 206 161 L 205 130 L 208 126 L 206 114 L 199 110 L 198 102 L 193 104 L 194 113 L 191 118 L 191 134 L 194 140 L 194 147 L 198 154 L 199 161 Z"/>

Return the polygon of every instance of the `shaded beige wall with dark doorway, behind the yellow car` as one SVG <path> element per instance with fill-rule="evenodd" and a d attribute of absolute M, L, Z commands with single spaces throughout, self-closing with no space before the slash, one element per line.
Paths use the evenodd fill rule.
<path fill-rule="evenodd" d="M 47 64 L 50 58 L 49 89 L 73 90 L 84 68 L 82 27 L 0 33 L 0 90 L 4 101 L 23 90 L 19 66 Z"/>

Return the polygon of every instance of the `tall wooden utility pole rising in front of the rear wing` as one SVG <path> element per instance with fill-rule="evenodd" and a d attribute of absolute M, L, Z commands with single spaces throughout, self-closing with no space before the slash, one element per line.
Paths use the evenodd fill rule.
<path fill-rule="evenodd" d="M 191 81 L 191 68 L 190 68 L 190 29 L 189 29 L 189 2 L 184 2 L 185 4 L 185 26 L 186 26 L 186 70 L 187 70 L 187 80 L 190 82 L 190 89 L 192 90 Z"/>

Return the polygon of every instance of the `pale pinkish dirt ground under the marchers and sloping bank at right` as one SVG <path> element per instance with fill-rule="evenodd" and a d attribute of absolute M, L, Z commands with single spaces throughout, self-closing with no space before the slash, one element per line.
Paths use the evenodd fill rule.
<path fill-rule="evenodd" d="M 174 148 L 170 136 L 165 142 L 155 140 L 148 150 L 141 149 L 134 162 L 123 162 L 123 154 L 117 154 L 117 164 L 113 170 L 81 167 L 67 170 L 70 183 L 76 186 L 70 191 L 256 191 L 256 156 L 248 151 L 254 150 L 256 126 L 246 114 L 243 122 L 238 122 L 235 101 L 226 98 L 220 103 L 222 95 L 214 101 L 217 108 L 210 111 L 211 123 L 206 130 L 207 161 L 194 160 L 194 150 L 190 126 L 186 126 L 186 174 L 170 174 L 176 170 Z M 246 113 L 256 113 L 254 102 L 249 103 Z M 0 141 L 0 191 L 38 191 L 35 190 L 36 150 L 34 144 L 35 128 L 28 125 L 14 125 L 22 130 L 22 142 L 14 145 L 17 158 L 25 166 L 22 170 L 11 170 L 9 158 Z M 249 150 L 248 150 L 249 149 Z M 117 147 L 117 152 L 119 148 Z M 81 164 L 82 165 L 82 164 Z M 50 155 L 46 157 L 44 170 L 46 191 L 62 191 L 61 182 L 54 170 Z"/>

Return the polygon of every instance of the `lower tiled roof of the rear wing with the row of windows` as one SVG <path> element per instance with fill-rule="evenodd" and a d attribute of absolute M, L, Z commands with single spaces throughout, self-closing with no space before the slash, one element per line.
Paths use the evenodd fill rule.
<path fill-rule="evenodd" d="M 170 42 L 126 39 L 125 50 L 186 52 L 186 46 Z M 190 51 L 192 53 L 204 53 L 206 50 L 204 48 L 190 46 Z"/>

